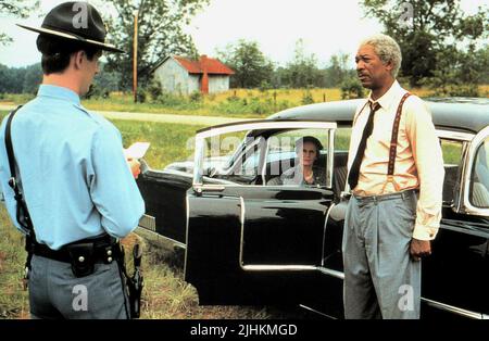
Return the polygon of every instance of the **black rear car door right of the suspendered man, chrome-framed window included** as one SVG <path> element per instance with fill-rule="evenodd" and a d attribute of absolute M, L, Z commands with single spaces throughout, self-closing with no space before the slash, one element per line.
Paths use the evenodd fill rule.
<path fill-rule="evenodd" d="M 459 134 L 460 136 L 460 134 Z M 427 315 L 450 314 L 471 318 L 489 315 L 489 127 L 465 139 L 454 204 L 444 205 L 432 254 L 423 264 L 423 301 Z M 444 150 L 443 150 L 444 152 Z M 443 159 L 449 156 L 443 153 Z"/>

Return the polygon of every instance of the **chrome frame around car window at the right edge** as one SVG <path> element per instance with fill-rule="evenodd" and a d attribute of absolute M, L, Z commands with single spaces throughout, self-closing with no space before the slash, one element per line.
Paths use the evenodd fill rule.
<path fill-rule="evenodd" d="M 489 216 L 489 207 L 488 209 L 480 209 L 476 207 L 471 203 L 471 200 L 468 199 L 469 193 L 469 185 L 471 185 L 471 178 L 473 173 L 473 165 L 476 157 L 476 152 L 480 144 L 489 138 L 489 126 L 480 130 L 472 140 L 471 146 L 468 147 L 468 157 L 466 159 L 467 162 L 465 164 L 465 174 L 464 174 L 464 186 L 463 186 L 463 210 L 467 214 L 477 215 L 477 216 Z"/>

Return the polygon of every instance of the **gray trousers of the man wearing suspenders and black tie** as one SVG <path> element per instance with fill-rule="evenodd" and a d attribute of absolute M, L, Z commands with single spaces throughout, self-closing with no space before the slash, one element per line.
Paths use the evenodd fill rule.
<path fill-rule="evenodd" d="M 352 195 L 343 230 L 344 317 L 419 318 L 421 262 L 410 256 L 414 191 Z"/>

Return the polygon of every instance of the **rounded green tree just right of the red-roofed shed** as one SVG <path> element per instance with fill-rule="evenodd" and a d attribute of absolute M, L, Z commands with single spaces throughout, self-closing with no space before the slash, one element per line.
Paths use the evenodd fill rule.
<path fill-rule="evenodd" d="M 274 64 L 263 54 L 256 41 L 238 40 L 217 50 L 217 58 L 235 72 L 230 87 L 266 88 L 272 84 Z"/>

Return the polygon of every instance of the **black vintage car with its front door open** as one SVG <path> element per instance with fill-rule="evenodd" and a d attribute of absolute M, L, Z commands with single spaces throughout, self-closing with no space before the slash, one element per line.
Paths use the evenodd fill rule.
<path fill-rule="evenodd" d="M 185 250 L 200 304 L 300 304 L 342 317 L 347 150 L 362 100 L 294 108 L 196 135 L 195 160 L 143 163 L 140 227 Z M 423 261 L 422 317 L 489 318 L 489 100 L 427 100 L 443 150 L 441 229 Z M 386 127 L 391 129 L 391 127 Z M 324 184 L 274 185 L 294 142 L 321 140 Z"/>

